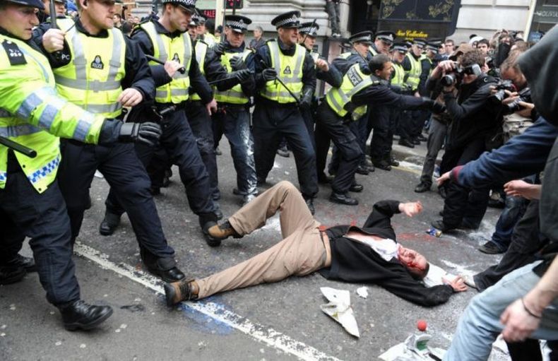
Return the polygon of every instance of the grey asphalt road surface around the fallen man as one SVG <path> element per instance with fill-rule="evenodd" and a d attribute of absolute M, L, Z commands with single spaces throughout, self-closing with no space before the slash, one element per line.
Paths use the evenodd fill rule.
<path fill-rule="evenodd" d="M 232 194 L 236 177 L 226 141 L 220 148 L 220 204 L 226 218 L 242 200 Z M 425 146 L 412 152 L 396 149 L 406 152 L 400 153 L 405 158 L 400 167 L 368 176 L 357 174 L 357 181 L 364 184 L 364 191 L 354 194 L 360 200 L 358 206 L 331 203 L 331 190 L 320 186 L 314 202 L 316 218 L 326 225 L 353 220 L 360 225 L 376 201 L 419 199 L 425 206 L 422 214 L 393 218 L 401 244 L 417 249 L 451 273 L 482 271 L 497 263 L 499 256 L 482 254 L 476 248 L 492 234 L 499 210 L 489 208 L 480 230 L 440 238 L 427 235 L 430 221 L 439 218 L 443 200 L 435 191 L 412 191 Z M 297 184 L 292 154 L 275 158 L 268 187 L 283 179 Z M 107 190 L 105 180 L 95 178 L 90 190 L 93 208 L 85 213 L 75 261 L 83 299 L 111 305 L 113 316 L 94 331 L 64 331 L 59 312 L 44 298 L 37 274 L 30 273 L 20 283 L 0 286 L 0 360 L 377 360 L 415 332 L 418 319 L 428 323 L 429 345 L 447 348 L 458 317 L 476 294 L 468 290 L 453 295 L 446 304 L 425 308 L 374 285 L 368 286 L 369 296 L 363 299 L 355 292 L 363 285 L 332 282 L 313 274 L 168 308 L 161 283 L 143 272 L 129 220 L 124 217 L 111 237 L 99 235 Z M 188 277 L 208 276 L 280 240 L 275 216 L 252 235 L 208 247 L 176 171 L 170 187 L 155 199 L 167 239 Z M 30 254 L 27 245 L 24 253 Z M 321 312 L 320 305 L 327 303 L 321 287 L 350 291 L 360 338 L 350 336 Z M 492 359 L 507 357 L 494 351 Z"/>

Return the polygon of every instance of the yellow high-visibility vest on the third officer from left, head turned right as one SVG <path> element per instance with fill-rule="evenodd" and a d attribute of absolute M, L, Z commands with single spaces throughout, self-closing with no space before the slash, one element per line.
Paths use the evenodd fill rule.
<path fill-rule="evenodd" d="M 153 21 L 143 23 L 140 27 L 146 31 L 153 45 L 153 57 L 160 61 L 176 60 L 184 66 L 184 74 L 175 73 L 172 81 L 161 85 L 155 90 L 155 102 L 179 104 L 188 100 L 188 88 L 190 86 L 190 71 L 192 59 L 192 42 L 188 32 L 184 32 L 177 37 L 168 37 L 155 30 Z M 155 61 L 150 61 L 150 65 L 157 65 Z"/>

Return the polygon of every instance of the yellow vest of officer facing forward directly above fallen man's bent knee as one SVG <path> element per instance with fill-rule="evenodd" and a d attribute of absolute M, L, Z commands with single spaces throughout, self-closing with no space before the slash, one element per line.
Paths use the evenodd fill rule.
<path fill-rule="evenodd" d="M 271 67 L 277 71 L 277 77 L 289 88 L 292 94 L 300 99 L 302 93 L 302 69 L 304 67 L 304 57 L 306 57 L 306 48 L 302 45 L 295 45 L 295 54 L 289 57 L 283 54 L 278 42 L 270 40 L 266 42 L 271 55 Z M 285 89 L 281 83 L 276 80 L 266 82 L 266 87 L 261 90 L 260 95 L 269 100 L 278 103 L 294 103 L 292 95 Z"/>

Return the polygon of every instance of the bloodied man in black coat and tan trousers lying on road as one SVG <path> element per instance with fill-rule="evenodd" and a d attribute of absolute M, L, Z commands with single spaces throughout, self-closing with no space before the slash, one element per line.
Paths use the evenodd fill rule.
<path fill-rule="evenodd" d="M 467 289 L 461 277 L 427 288 L 421 281 L 429 270 L 425 256 L 396 242 L 391 217 L 395 213 L 410 217 L 420 213 L 420 202 L 380 201 L 362 228 L 326 228 L 312 217 L 295 186 L 283 181 L 208 232 L 215 239 L 239 238 L 265 225 L 267 218 L 279 210 L 281 242 L 212 276 L 167 283 L 167 304 L 200 300 L 218 292 L 278 282 L 292 275 L 306 276 L 314 271 L 329 280 L 380 285 L 422 306 L 444 303 L 453 292 Z"/>

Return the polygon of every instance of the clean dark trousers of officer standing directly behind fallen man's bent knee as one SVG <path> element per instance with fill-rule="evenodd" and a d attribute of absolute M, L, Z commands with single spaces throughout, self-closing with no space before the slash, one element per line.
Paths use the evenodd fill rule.
<path fill-rule="evenodd" d="M 254 110 L 254 159 L 259 180 L 265 180 L 273 168 L 275 152 L 284 136 L 295 155 L 298 182 L 302 196 L 313 198 L 318 193 L 316 153 L 304 119 L 297 106 L 267 100 L 256 102 Z"/>

